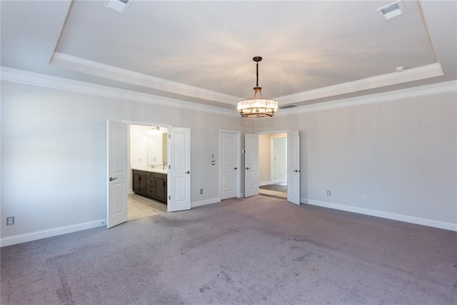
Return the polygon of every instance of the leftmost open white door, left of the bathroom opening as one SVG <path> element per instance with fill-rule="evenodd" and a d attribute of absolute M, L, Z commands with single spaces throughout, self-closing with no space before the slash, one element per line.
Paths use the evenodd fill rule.
<path fill-rule="evenodd" d="M 127 221 L 127 125 L 107 121 L 106 228 Z"/>

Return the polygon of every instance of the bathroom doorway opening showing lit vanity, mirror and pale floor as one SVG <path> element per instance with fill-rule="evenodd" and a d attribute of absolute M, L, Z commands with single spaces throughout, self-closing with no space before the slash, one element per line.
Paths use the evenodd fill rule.
<path fill-rule="evenodd" d="M 137 178 L 132 173 L 135 170 L 146 174 L 163 171 L 166 168 L 168 165 L 167 134 L 166 127 L 129 124 L 128 220 L 166 212 L 166 201 L 159 201 L 154 199 L 154 196 L 150 196 L 151 192 L 156 190 L 146 183 L 152 179 L 146 175 Z M 141 184 L 141 181 L 138 181 L 141 178 L 146 179 L 144 189 L 134 187 L 134 184 Z M 149 182 L 155 183 L 155 181 Z"/>

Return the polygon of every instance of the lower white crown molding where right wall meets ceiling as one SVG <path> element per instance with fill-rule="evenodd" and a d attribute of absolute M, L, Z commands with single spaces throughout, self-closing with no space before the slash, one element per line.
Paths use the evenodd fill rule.
<path fill-rule="evenodd" d="M 401 99 L 411 99 L 420 96 L 430 96 L 436 94 L 447 94 L 457 92 L 457 81 L 445 81 L 438 84 L 418 86 L 396 91 L 388 91 L 366 96 L 357 96 L 348 99 L 336 99 L 334 101 L 324 101 L 318 104 L 301 106 L 298 108 L 281 109 L 275 116 L 290 116 L 292 114 L 303 114 L 306 112 L 323 111 L 344 107 L 353 107 L 366 104 L 383 103 L 386 101 L 396 101 Z"/>

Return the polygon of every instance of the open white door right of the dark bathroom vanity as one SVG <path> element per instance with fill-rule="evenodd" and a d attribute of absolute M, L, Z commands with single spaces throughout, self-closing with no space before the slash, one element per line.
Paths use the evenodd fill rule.
<path fill-rule="evenodd" d="M 191 129 L 169 129 L 167 211 L 191 209 Z"/>

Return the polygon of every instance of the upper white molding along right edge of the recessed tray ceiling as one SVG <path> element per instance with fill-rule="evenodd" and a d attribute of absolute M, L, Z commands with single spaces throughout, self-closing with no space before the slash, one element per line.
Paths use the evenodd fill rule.
<path fill-rule="evenodd" d="M 417 81 L 419 79 L 428 79 L 430 77 L 442 75 L 444 74 L 443 69 L 441 69 L 441 64 L 430 64 L 428 66 L 420 66 L 418 68 L 407 69 L 402 72 L 393 72 L 389 74 L 383 74 L 380 76 L 370 77 L 368 79 L 361 79 L 358 81 L 351 81 L 344 84 L 338 84 L 334 86 L 304 91 L 298 94 L 281 96 L 276 98 L 276 100 L 281 101 L 281 105 L 293 104 L 300 101 L 322 99 L 328 96 L 348 94 L 356 91 L 374 89 L 394 84 L 402 84 L 408 81 Z"/>

